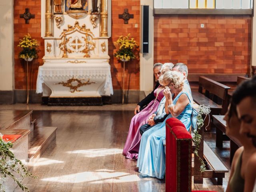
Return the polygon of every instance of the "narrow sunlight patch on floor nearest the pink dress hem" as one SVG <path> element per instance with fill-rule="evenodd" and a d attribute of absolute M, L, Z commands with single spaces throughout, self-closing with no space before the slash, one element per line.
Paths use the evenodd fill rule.
<path fill-rule="evenodd" d="M 122 154 L 122 149 L 118 148 L 102 148 L 102 149 L 87 149 L 68 151 L 68 154 L 82 154 L 85 157 L 103 157 L 107 155 Z"/>

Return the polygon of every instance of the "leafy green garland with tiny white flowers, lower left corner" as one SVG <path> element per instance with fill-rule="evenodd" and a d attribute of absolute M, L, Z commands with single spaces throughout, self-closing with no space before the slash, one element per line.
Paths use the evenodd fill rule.
<path fill-rule="evenodd" d="M 0 133 L 0 192 L 4 192 L 6 190 L 4 182 L 6 182 L 7 176 L 12 178 L 23 191 L 28 192 L 29 189 L 22 184 L 21 180 L 18 179 L 16 175 L 20 178 L 37 177 L 28 172 L 26 166 L 24 166 L 24 164 L 14 156 L 10 151 L 12 146 L 12 142 L 5 142 L 2 139 L 2 134 Z"/>

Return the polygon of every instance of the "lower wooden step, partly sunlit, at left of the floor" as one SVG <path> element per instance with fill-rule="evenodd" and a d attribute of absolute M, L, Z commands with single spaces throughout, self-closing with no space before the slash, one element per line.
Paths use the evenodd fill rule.
<path fill-rule="evenodd" d="M 57 127 L 38 127 L 28 135 L 28 159 L 36 162 L 56 140 Z M 52 142 L 54 141 L 54 142 Z"/>

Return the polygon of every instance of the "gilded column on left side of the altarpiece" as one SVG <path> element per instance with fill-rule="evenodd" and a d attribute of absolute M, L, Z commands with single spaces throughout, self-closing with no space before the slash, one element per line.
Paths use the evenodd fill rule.
<path fill-rule="evenodd" d="M 52 37 L 52 1 L 46 0 L 45 11 L 45 36 Z"/>

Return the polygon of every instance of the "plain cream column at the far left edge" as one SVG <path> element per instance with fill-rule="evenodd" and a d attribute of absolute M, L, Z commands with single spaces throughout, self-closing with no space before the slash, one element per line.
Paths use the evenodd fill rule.
<path fill-rule="evenodd" d="M 13 0 L 0 1 L 0 90 L 14 88 Z"/>

